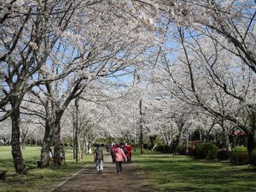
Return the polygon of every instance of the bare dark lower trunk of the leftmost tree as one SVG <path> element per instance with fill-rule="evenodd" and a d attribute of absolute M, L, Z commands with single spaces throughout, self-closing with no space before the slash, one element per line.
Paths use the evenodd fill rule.
<path fill-rule="evenodd" d="M 12 102 L 12 107 L 15 106 L 15 102 Z M 12 155 L 15 164 L 15 171 L 19 174 L 26 173 L 26 166 L 23 162 L 22 153 L 20 149 L 20 108 L 16 108 L 11 115 L 12 120 Z"/>

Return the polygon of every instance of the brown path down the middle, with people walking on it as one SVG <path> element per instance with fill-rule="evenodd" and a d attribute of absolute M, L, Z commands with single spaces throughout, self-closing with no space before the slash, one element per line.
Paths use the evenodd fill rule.
<path fill-rule="evenodd" d="M 61 191 L 99 191 L 99 192 L 143 192 L 152 191 L 148 186 L 143 185 L 143 178 L 137 174 L 136 165 L 123 164 L 123 173 L 117 174 L 115 163 L 112 163 L 109 154 L 104 156 L 104 171 L 96 173 L 95 164 L 86 166 L 78 174 L 70 177 L 65 183 L 61 184 L 54 192 Z"/>

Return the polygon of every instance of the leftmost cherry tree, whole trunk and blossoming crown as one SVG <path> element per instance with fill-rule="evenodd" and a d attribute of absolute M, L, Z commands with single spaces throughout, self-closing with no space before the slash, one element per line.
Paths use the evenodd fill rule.
<path fill-rule="evenodd" d="M 12 119 L 12 152 L 16 172 L 26 172 L 20 151 L 20 102 L 39 79 L 49 53 L 67 30 L 83 1 L 10 1 L 1 3 L 1 119 Z"/>

